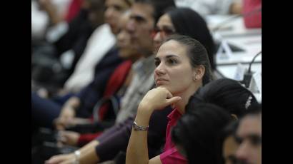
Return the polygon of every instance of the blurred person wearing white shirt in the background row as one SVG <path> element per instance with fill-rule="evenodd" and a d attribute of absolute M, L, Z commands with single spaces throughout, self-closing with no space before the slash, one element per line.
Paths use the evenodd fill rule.
<path fill-rule="evenodd" d="M 102 59 L 109 56 L 109 53 L 117 51 L 114 36 L 119 32 L 118 21 L 120 16 L 131 7 L 131 4 L 132 1 L 129 0 L 105 0 L 104 19 L 106 24 L 103 28 L 96 29 L 89 39 L 84 54 L 76 63 L 74 73 L 64 83 L 65 91 L 76 93 L 95 81 L 96 73 L 106 71 L 99 65 L 103 64 Z"/>

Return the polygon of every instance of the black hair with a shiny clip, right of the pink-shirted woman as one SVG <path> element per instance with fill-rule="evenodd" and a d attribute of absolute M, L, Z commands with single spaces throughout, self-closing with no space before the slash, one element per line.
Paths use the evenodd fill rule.
<path fill-rule="evenodd" d="M 199 99 L 221 106 L 238 118 L 260 106 L 257 98 L 254 97 L 251 91 L 242 86 L 238 81 L 229 78 L 221 78 L 199 88 L 189 98 L 186 109 L 192 110 L 193 106 L 199 102 Z"/>

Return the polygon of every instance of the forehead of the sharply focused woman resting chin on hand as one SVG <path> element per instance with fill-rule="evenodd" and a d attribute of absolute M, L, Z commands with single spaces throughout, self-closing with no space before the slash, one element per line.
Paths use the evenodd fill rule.
<path fill-rule="evenodd" d="M 161 58 L 163 56 L 178 56 L 180 58 L 187 58 L 187 46 L 181 43 L 171 40 L 167 41 L 160 46 L 156 58 Z"/>

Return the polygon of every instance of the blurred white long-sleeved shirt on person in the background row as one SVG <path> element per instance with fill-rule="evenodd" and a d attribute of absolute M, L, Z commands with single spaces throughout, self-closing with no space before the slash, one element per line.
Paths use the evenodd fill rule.
<path fill-rule="evenodd" d="M 96 28 L 86 43 L 86 48 L 81 58 L 76 63 L 74 73 L 64 84 L 64 87 L 73 92 L 78 92 L 94 79 L 94 68 L 101 58 L 114 46 L 116 38 L 111 33 L 108 24 Z"/>

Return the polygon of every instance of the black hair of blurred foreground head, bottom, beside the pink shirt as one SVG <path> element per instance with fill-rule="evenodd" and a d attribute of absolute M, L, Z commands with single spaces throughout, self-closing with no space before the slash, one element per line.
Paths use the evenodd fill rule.
<path fill-rule="evenodd" d="M 193 108 L 172 129 L 172 140 L 184 148 L 189 163 L 218 163 L 219 133 L 231 117 L 211 103 L 197 103 Z"/>

